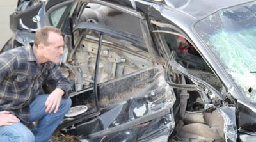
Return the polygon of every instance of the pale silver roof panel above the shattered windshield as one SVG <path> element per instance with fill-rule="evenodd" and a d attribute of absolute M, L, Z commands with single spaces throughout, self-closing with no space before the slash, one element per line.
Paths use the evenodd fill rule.
<path fill-rule="evenodd" d="M 164 0 L 166 5 L 175 10 L 193 17 L 201 19 L 211 13 L 214 13 L 223 8 L 236 6 L 238 4 L 248 3 L 252 0 Z"/>

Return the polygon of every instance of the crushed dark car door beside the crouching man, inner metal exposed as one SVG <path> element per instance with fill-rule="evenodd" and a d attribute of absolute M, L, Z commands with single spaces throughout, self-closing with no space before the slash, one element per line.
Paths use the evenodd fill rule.
<path fill-rule="evenodd" d="M 61 130 L 84 141 L 168 141 L 175 97 L 145 38 L 88 21 L 77 24 L 73 35 L 75 47 L 67 49 L 64 60 L 75 72 L 69 75 L 74 76 L 76 91 L 72 107 L 87 110 L 74 109 L 74 116 L 63 119 Z M 89 119 L 86 114 L 95 109 L 93 92 L 100 115 Z"/>

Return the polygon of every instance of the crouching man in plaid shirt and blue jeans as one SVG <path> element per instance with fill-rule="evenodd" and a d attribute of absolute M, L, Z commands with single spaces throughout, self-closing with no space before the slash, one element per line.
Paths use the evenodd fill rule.
<path fill-rule="evenodd" d="M 60 29 L 45 26 L 33 47 L 0 54 L 0 141 L 47 141 L 71 106 L 70 83 L 56 63 L 63 54 Z M 51 87 L 42 94 L 42 84 Z M 38 120 L 33 130 L 26 125 Z"/>

